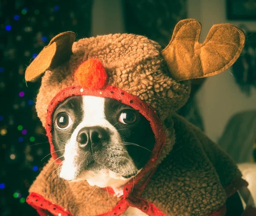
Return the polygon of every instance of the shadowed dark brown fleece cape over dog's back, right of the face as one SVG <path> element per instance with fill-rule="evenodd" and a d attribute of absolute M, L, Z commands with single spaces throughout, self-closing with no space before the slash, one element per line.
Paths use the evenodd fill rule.
<path fill-rule="evenodd" d="M 142 197 L 166 215 L 224 215 L 225 186 L 241 180 L 241 173 L 198 128 L 176 114 L 172 119 L 174 147 L 149 180 Z"/>

